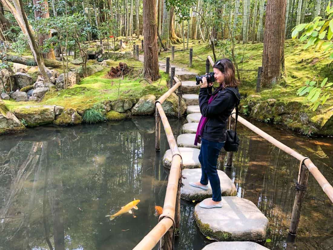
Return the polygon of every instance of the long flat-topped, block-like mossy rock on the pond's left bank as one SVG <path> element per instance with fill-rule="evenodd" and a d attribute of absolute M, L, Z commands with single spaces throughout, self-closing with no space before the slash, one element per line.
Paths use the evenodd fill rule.
<path fill-rule="evenodd" d="M 24 119 L 27 126 L 35 127 L 50 124 L 55 119 L 54 105 L 23 106 L 14 110 L 18 119 Z"/>

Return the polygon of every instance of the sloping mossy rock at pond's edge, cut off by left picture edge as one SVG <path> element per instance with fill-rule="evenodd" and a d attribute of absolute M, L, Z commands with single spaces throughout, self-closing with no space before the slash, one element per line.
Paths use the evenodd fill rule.
<path fill-rule="evenodd" d="M 25 126 L 0 100 L 0 134 L 21 132 Z"/>

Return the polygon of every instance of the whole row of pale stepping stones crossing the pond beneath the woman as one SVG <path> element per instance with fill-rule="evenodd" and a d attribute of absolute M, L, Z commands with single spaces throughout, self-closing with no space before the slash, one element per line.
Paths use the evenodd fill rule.
<path fill-rule="evenodd" d="M 189 182 L 199 181 L 201 176 L 200 162 L 198 161 L 201 145 L 194 146 L 193 144 L 201 113 L 198 105 L 198 95 L 193 94 L 198 92 L 198 89 L 194 89 L 194 87 L 198 88 L 198 86 L 194 86 L 195 82 L 191 81 L 182 83 L 186 83 L 186 87 L 182 85 L 182 90 L 184 92 L 186 89 L 183 99 L 187 105 L 187 123 L 182 126 L 182 134 L 177 137 L 177 145 L 183 162 L 182 174 L 185 177 L 182 180 L 184 186 L 180 190 L 180 197 L 183 200 L 198 202 L 209 199 L 212 196 L 212 190 L 210 184 L 208 184 L 208 190 L 189 185 Z M 187 86 L 191 87 L 187 88 Z M 166 168 L 170 168 L 171 159 L 171 151 L 167 150 L 163 157 Z M 265 239 L 268 219 L 253 202 L 235 197 L 236 188 L 232 180 L 223 171 L 217 170 L 217 173 L 221 185 L 222 208 L 204 209 L 197 204 L 194 208 L 194 218 L 202 234 L 225 242 L 209 244 L 202 250 L 268 249 L 251 242 Z"/>

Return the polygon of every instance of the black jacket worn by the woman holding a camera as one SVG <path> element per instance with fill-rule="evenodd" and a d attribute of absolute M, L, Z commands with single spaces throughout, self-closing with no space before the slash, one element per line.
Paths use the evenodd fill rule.
<path fill-rule="evenodd" d="M 202 138 L 214 142 L 225 142 L 225 125 L 236 103 L 240 100 L 240 94 L 237 87 L 217 90 L 217 96 L 208 104 L 211 95 L 216 94 L 216 91 L 213 93 L 211 91 L 212 87 L 207 87 L 200 88 L 199 92 L 200 112 L 208 117 Z"/>

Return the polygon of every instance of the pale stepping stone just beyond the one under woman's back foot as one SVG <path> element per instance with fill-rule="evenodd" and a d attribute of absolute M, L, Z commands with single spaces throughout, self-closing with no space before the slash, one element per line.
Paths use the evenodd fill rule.
<path fill-rule="evenodd" d="M 200 168 L 199 153 L 197 148 L 179 148 L 181 158 L 183 160 L 183 168 Z M 163 166 L 170 169 L 171 167 L 171 150 L 166 150 L 163 156 Z"/>

